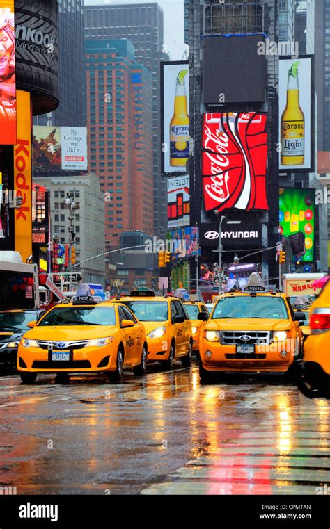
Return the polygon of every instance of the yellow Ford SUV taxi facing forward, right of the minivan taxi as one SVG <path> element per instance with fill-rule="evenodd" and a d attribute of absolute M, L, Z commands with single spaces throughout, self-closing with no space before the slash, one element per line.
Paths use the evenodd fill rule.
<path fill-rule="evenodd" d="M 207 320 L 200 347 L 200 377 L 214 373 L 285 373 L 301 355 L 299 322 L 283 293 L 267 291 L 253 272 L 242 291 L 225 293 Z"/>

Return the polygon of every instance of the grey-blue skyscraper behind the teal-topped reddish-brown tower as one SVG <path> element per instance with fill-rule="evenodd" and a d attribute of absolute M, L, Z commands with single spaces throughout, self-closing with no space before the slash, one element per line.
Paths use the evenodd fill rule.
<path fill-rule="evenodd" d="M 154 233 L 166 227 L 166 181 L 160 168 L 160 60 L 168 60 L 162 52 L 164 43 L 163 11 L 157 3 L 85 7 L 86 39 L 127 38 L 135 47 L 137 63 L 152 74 L 152 148 L 154 178 Z M 152 197 L 150 197 L 150 200 Z"/>

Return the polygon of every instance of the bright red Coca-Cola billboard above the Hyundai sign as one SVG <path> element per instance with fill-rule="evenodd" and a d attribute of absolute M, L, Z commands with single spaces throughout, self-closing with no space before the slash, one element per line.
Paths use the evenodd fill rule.
<path fill-rule="evenodd" d="M 267 210 L 267 115 L 207 113 L 202 135 L 205 210 Z"/>

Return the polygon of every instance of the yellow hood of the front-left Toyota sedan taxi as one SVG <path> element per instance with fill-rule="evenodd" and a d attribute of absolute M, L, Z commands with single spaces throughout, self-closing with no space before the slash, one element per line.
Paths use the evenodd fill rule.
<path fill-rule="evenodd" d="M 93 338 L 107 338 L 116 332 L 115 325 L 45 325 L 33 327 L 24 334 L 24 338 L 31 340 L 75 341 L 92 340 Z"/>

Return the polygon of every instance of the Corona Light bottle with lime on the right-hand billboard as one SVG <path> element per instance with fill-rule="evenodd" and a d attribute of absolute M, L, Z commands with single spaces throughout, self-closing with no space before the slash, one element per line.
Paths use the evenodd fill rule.
<path fill-rule="evenodd" d="M 305 163 L 305 117 L 299 104 L 298 67 L 292 65 L 288 75 L 287 102 L 281 118 L 281 165 Z"/>

